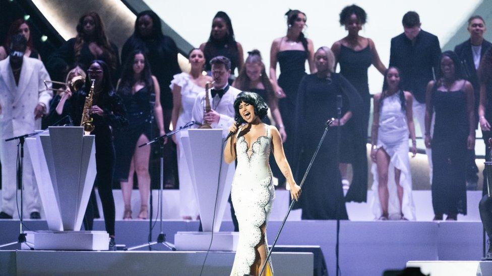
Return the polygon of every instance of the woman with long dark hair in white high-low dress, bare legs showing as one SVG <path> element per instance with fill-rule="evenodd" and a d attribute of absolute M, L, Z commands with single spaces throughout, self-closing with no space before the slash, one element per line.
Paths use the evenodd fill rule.
<path fill-rule="evenodd" d="M 374 199 L 371 208 L 376 219 L 415 220 L 408 158 L 409 136 L 412 139 L 412 157 L 416 154 L 412 95 L 400 88 L 397 68 L 390 67 L 386 70 L 385 81 L 388 89 L 374 96 L 371 135 Z M 393 174 L 391 167 L 394 167 L 394 177 L 390 177 Z"/>

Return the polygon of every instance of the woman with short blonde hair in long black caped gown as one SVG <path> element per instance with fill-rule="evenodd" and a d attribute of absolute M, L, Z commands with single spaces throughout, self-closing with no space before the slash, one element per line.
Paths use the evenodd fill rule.
<path fill-rule="evenodd" d="M 302 78 L 296 101 L 294 160 L 299 162 L 295 175 L 298 182 L 319 144 L 326 121 L 337 118 L 338 95 L 342 96 L 342 117 L 340 123 L 335 121 L 332 124 L 302 187 L 303 196 L 299 200 L 302 219 L 336 219 L 337 213 L 338 218 L 348 219 L 336 158 L 339 145 L 337 128 L 342 127 L 343 135 L 343 128 L 352 121 L 351 127 L 354 129 L 350 131 L 354 135 L 358 133 L 357 138 L 360 138 L 362 100 L 357 90 L 341 74 L 334 72 L 335 57 L 330 48 L 321 47 L 316 51 L 315 64 L 317 73 Z M 362 146 L 365 147 L 365 144 Z M 342 154 L 344 153 L 340 149 L 340 155 Z M 367 163 L 365 170 L 367 178 Z M 360 172 L 354 171 L 354 181 L 358 181 L 359 177 Z M 365 182 L 367 183 L 367 179 Z"/>

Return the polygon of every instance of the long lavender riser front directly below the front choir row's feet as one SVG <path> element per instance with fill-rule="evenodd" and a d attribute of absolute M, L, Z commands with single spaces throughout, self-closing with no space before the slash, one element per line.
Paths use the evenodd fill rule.
<path fill-rule="evenodd" d="M 268 224 L 270 243 L 281 222 Z M 0 242 L 17 238 L 17 221 L 0 220 Z M 26 221 L 33 230 L 46 230 L 42 221 Z M 117 221 L 116 241 L 134 246 L 147 241 L 148 223 Z M 159 224 L 153 238 L 159 233 Z M 231 231 L 232 222 L 222 224 L 221 231 Z M 104 230 L 102 220 L 94 230 Z M 177 231 L 197 231 L 198 222 L 164 222 L 167 240 L 174 242 Z M 335 221 L 289 221 L 280 235 L 280 245 L 320 245 L 330 275 L 335 274 Z M 403 268 L 410 260 L 479 260 L 482 256 L 480 222 L 350 222 L 340 228 L 340 267 L 343 275 L 381 275 L 386 269 Z M 163 246 L 155 246 L 163 250 Z M 12 249 L 12 248 L 11 248 Z"/>

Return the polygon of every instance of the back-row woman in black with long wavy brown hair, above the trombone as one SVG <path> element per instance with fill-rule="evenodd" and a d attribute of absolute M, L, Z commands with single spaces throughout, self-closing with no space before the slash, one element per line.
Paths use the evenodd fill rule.
<path fill-rule="evenodd" d="M 52 79 L 61 81 L 69 68 L 79 65 L 86 71 L 95 59 L 103 60 L 109 66 L 114 85 L 119 78 L 118 48 L 106 37 L 99 15 L 90 12 L 80 17 L 77 36 L 61 45 L 49 57 L 46 67 Z"/>

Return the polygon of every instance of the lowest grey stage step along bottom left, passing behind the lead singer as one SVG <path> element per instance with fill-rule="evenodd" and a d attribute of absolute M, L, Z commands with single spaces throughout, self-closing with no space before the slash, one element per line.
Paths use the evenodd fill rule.
<path fill-rule="evenodd" d="M 0 251 L 1 261 L 14 262 L 17 275 L 200 275 L 205 252 L 74 252 L 74 251 Z M 273 253 L 277 275 L 313 275 L 313 253 Z M 203 276 L 228 275 L 234 253 L 212 252 Z M 275 265 L 277 264 L 277 265 Z M 1 266 L 0 266 L 1 267 Z M 11 270 L 12 271 L 12 270 Z M 5 271 L 0 270 L 0 274 Z"/>

